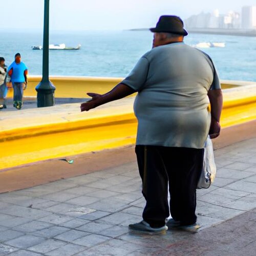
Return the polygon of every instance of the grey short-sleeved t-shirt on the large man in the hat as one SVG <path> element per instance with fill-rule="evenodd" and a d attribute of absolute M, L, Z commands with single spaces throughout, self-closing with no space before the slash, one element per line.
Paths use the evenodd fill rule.
<path fill-rule="evenodd" d="M 208 55 L 184 42 L 159 46 L 121 83 L 138 92 L 137 145 L 204 147 L 210 125 L 207 92 L 221 88 Z"/>

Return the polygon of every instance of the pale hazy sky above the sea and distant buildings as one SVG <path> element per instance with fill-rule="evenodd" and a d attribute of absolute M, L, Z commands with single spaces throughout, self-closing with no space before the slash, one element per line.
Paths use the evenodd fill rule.
<path fill-rule="evenodd" d="M 50 29 L 150 28 L 156 25 L 160 15 L 185 19 L 215 9 L 220 13 L 240 12 L 246 5 L 256 5 L 256 0 L 50 0 Z M 42 29 L 44 0 L 11 0 L 5 1 L 2 7 L 0 29 Z"/>

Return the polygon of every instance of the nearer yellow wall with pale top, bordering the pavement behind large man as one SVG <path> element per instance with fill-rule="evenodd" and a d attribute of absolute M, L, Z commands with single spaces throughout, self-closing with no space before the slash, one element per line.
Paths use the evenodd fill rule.
<path fill-rule="evenodd" d="M 223 94 L 222 127 L 256 119 L 256 86 L 238 86 Z M 86 113 L 75 103 L 3 116 L 0 169 L 135 143 L 133 101 L 125 98 Z"/>

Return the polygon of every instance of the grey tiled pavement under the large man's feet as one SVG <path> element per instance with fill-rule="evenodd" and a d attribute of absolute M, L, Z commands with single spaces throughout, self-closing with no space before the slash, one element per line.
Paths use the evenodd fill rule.
<path fill-rule="evenodd" d="M 256 207 L 256 138 L 221 148 L 215 156 L 216 181 L 197 193 L 203 230 L 197 234 L 129 232 L 127 225 L 141 220 L 144 206 L 134 162 L 1 194 L 0 256 L 160 255 L 159 249 L 189 237 L 197 240 L 210 226 Z"/>

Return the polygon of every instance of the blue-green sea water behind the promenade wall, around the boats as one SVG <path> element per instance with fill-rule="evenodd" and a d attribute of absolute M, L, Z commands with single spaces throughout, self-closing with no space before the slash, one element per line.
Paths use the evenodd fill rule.
<path fill-rule="evenodd" d="M 7 65 L 19 52 L 31 75 L 42 73 L 42 51 L 32 50 L 42 45 L 42 32 L 0 30 L 0 56 Z M 50 50 L 50 75 L 125 77 L 138 59 L 152 48 L 149 31 L 81 31 L 50 32 L 50 44 L 64 43 L 77 51 Z M 188 45 L 199 42 L 225 42 L 224 48 L 201 49 L 215 63 L 221 79 L 256 81 L 256 37 L 191 33 L 184 39 Z"/>

